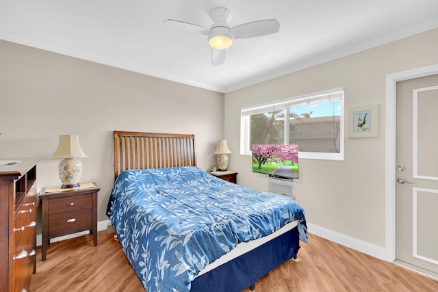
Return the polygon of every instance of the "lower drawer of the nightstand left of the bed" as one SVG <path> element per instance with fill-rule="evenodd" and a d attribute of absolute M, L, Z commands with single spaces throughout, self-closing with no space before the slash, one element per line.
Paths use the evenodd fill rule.
<path fill-rule="evenodd" d="M 49 215 L 49 234 L 76 229 L 92 229 L 91 209 Z"/>

